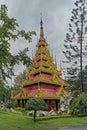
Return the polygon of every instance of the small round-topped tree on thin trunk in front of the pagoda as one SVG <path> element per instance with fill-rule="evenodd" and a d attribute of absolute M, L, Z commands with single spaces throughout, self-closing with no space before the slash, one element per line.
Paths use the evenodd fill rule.
<path fill-rule="evenodd" d="M 47 110 L 48 106 L 45 101 L 41 98 L 34 97 L 30 98 L 26 104 L 28 110 L 34 110 L 34 122 L 36 121 L 36 113 L 38 110 Z"/>

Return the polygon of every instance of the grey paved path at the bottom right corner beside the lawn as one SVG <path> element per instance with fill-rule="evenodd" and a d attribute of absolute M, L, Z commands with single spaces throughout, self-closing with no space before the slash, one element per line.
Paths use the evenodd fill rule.
<path fill-rule="evenodd" d="M 52 130 L 87 130 L 87 125 L 86 126 L 66 126 L 66 127 L 55 128 Z"/>

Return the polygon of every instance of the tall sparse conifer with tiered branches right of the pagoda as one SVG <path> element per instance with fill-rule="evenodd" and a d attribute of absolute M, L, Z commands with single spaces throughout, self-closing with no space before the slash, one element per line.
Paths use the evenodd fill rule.
<path fill-rule="evenodd" d="M 81 89 L 83 86 L 83 62 L 86 63 L 87 58 L 87 1 L 77 0 L 75 9 L 72 10 L 72 16 L 69 23 L 69 33 L 66 33 L 63 54 L 65 55 L 64 63 L 68 64 L 67 75 L 76 78 L 80 71 Z"/>

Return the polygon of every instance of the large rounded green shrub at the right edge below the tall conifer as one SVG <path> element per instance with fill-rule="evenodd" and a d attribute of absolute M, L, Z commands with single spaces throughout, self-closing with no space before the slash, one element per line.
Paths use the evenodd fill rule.
<path fill-rule="evenodd" d="M 70 114 L 72 116 L 87 116 L 87 94 L 82 93 L 72 100 Z"/>

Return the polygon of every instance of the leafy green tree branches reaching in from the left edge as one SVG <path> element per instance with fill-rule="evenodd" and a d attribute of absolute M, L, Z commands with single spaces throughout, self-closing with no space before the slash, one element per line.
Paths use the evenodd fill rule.
<path fill-rule="evenodd" d="M 11 78 L 13 73 L 13 68 L 15 64 L 22 62 L 24 65 L 29 65 L 31 63 L 30 57 L 27 55 L 28 48 L 20 51 L 17 55 L 13 55 L 10 52 L 10 42 L 18 40 L 23 37 L 28 42 L 31 42 L 32 35 L 35 32 L 25 32 L 24 30 L 19 30 L 18 23 L 16 19 L 10 18 L 8 16 L 8 9 L 6 5 L 1 5 L 0 8 L 0 79 L 6 80 L 6 78 Z"/>

